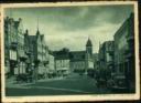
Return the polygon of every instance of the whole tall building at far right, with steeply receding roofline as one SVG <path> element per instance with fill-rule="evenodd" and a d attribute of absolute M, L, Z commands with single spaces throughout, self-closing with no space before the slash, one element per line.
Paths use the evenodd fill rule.
<path fill-rule="evenodd" d="M 122 23 L 115 33 L 115 72 L 126 79 L 130 91 L 135 87 L 134 65 L 134 17 L 133 13 Z"/>

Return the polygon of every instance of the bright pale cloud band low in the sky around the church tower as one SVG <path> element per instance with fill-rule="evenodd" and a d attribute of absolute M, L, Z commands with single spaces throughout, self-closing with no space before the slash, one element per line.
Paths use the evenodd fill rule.
<path fill-rule="evenodd" d="M 58 24 L 59 25 L 59 24 Z M 58 25 L 50 27 L 46 30 L 45 40 L 51 50 L 68 48 L 70 50 L 85 50 L 88 37 L 93 41 L 94 52 L 98 52 L 99 42 L 112 40 L 115 32 L 120 24 L 102 23 L 100 27 L 91 27 L 87 30 L 65 31 Z"/>

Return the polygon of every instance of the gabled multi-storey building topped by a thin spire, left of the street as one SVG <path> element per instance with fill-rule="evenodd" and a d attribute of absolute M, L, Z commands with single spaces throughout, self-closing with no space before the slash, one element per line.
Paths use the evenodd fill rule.
<path fill-rule="evenodd" d="M 29 35 L 30 38 L 30 56 L 32 65 L 34 66 L 34 79 L 37 80 L 37 75 L 46 75 L 46 69 L 48 63 L 48 49 L 45 45 L 44 35 L 36 31 L 35 35 Z"/>

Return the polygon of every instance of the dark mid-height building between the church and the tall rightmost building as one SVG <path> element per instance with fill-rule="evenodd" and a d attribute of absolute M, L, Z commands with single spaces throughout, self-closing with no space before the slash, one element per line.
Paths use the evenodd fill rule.
<path fill-rule="evenodd" d="M 105 41 L 99 47 L 99 71 L 106 81 L 111 78 L 113 71 L 113 41 Z"/>

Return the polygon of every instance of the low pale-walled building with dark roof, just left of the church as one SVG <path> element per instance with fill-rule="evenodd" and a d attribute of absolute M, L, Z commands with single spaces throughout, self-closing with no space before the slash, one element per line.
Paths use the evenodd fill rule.
<path fill-rule="evenodd" d="M 69 73 L 69 50 L 64 48 L 61 51 L 54 51 L 55 69 L 58 75 Z"/>

